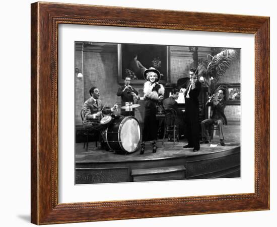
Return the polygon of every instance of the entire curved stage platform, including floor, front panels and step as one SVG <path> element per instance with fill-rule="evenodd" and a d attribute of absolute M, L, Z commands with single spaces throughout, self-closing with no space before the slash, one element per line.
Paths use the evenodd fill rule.
<path fill-rule="evenodd" d="M 240 144 L 230 142 L 223 147 L 200 145 L 198 152 L 184 149 L 185 141 L 158 141 L 157 153 L 146 143 L 145 153 L 140 148 L 133 153 L 119 154 L 89 144 L 76 144 L 76 184 L 132 181 L 158 181 L 240 177 Z"/>

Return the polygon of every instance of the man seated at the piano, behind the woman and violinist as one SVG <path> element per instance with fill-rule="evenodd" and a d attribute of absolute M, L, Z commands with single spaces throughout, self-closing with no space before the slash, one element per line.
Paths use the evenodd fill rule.
<path fill-rule="evenodd" d="M 171 95 L 163 100 L 165 108 L 172 108 L 177 113 L 176 125 L 179 127 L 179 138 L 181 138 L 181 133 L 184 131 L 184 118 L 182 111 L 178 108 L 177 99 L 179 97 L 179 90 L 172 89 Z"/>

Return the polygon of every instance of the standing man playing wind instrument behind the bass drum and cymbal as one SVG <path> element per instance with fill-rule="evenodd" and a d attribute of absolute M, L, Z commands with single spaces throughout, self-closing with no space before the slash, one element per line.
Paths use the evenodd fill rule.
<path fill-rule="evenodd" d="M 121 96 L 121 106 L 126 105 L 126 102 L 133 103 L 132 93 L 138 95 L 138 92 L 130 85 L 130 82 L 131 78 L 125 77 L 124 85 L 119 87 L 116 93 L 117 96 Z M 125 109 L 121 109 L 121 115 L 134 117 L 134 109 L 132 111 L 125 111 Z"/>

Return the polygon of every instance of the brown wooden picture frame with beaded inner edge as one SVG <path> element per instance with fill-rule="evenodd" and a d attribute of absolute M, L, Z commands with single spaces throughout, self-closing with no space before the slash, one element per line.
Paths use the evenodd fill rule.
<path fill-rule="evenodd" d="M 155 17 L 148 17 L 154 14 Z M 254 193 L 59 203 L 59 24 L 254 34 Z M 50 224 L 269 209 L 268 17 L 34 3 L 31 5 L 31 46 L 32 223 Z"/>

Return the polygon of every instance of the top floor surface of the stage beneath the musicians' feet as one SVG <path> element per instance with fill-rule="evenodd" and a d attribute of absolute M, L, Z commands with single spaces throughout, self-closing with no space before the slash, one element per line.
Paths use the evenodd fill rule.
<path fill-rule="evenodd" d="M 133 152 L 128 154 L 118 154 L 111 151 L 105 151 L 98 147 L 95 147 L 95 142 L 89 143 L 88 150 L 83 148 L 83 143 L 76 144 L 76 162 L 126 162 L 126 161 L 141 161 L 141 160 L 161 160 L 175 157 L 190 157 L 198 155 L 206 155 L 211 153 L 217 153 L 227 150 L 233 150 L 240 147 L 240 144 L 236 141 L 227 141 L 226 146 L 221 146 L 219 141 L 212 141 L 210 144 L 200 145 L 200 150 L 197 152 L 192 152 L 192 148 L 183 148 L 186 145 L 186 141 L 167 142 L 165 141 L 162 145 L 162 140 L 158 140 L 157 143 L 157 153 L 152 153 L 152 144 L 150 142 L 146 143 L 145 153 L 140 154 L 140 147 Z M 210 145 L 216 145 L 217 147 L 210 147 Z"/>

